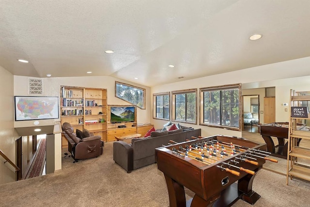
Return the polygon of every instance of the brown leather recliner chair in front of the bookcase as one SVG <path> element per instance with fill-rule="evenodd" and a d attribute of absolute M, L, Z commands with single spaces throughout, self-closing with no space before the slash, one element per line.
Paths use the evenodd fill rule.
<path fill-rule="evenodd" d="M 77 162 L 78 159 L 95 158 L 103 153 L 104 142 L 101 136 L 91 136 L 80 139 L 74 133 L 71 124 L 65 122 L 62 124 L 62 133 L 68 141 L 68 151 L 71 153 L 72 158 Z"/>

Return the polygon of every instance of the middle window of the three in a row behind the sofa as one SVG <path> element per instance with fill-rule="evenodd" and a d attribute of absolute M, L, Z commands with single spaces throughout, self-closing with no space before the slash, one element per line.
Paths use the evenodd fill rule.
<path fill-rule="evenodd" d="M 197 124 L 197 89 L 172 91 L 172 119 Z"/>

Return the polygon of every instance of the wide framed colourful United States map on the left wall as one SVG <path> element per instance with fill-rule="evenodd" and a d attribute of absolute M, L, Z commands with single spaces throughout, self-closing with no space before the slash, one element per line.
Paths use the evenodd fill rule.
<path fill-rule="evenodd" d="M 58 97 L 14 96 L 15 121 L 58 119 Z"/>

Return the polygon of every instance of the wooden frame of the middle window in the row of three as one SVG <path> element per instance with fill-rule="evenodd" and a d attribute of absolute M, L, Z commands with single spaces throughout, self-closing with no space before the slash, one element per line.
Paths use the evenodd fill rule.
<path fill-rule="evenodd" d="M 189 94 L 189 93 L 195 93 L 195 101 L 196 101 L 195 112 L 196 112 L 196 115 L 195 115 L 195 121 L 194 122 L 176 119 L 176 115 L 175 115 L 175 96 L 176 95 L 180 95 L 180 94 Z M 198 110 L 197 110 L 197 88 L 172 91 L 171 92 L 171 96 L 172 96 L 171 97 L 171 117 L 172 117 L 172 121 L 197 125 L 197 115 L 198 115 Z"/>

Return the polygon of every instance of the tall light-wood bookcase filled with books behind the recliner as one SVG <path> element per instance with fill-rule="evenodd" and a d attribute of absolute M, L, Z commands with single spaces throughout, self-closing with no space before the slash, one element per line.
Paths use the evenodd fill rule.
<path fill-rule="evenodd" d="M 107 89 L 61 86 L 61 123 L 88 129 L 107 141 Z M 62 138 L 62 147 L 67 146 Z"/>

